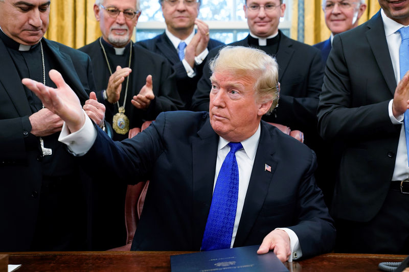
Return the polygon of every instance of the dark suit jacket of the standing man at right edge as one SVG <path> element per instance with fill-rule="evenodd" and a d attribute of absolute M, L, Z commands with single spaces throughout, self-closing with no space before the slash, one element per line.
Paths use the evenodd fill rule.
<path fill-rule="evenodd" d="M 332 212 L 369 221 L 388 193 L 401 128 L 388 115 L 396 79 L 380 12 L 332 45 L 318 110 L 322 137 L 345 145 Z"/>

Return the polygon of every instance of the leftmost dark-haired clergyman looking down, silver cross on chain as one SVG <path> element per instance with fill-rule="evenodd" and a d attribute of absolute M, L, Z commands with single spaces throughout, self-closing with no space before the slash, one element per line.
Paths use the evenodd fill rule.
<path fill-rule="evenodd" d="M 0 251 L 88 249 L 89 180 L 58 142 L 61 118 L 21 79 L 52 85 L 59 69 L 96 123 L 105 108 L 89 57 L 43 38 L 49 12 L 47 0 L 0 1 Z"/>

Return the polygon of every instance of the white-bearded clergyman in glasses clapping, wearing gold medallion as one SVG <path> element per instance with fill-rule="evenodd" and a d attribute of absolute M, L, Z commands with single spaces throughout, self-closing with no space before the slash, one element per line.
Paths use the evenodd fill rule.
<path fill-rule="evenodd" d="M 131 41 L 141 14 L 139 1 L 97 0 L 94 13 L 102 37 L 79 50 L 93 63 L 97 98 L 106 107 L 113 139 L 122 140 L 128 138 L 129 129 L 141 127 L 160 112 L 181 109 L 183 104 L 168 61 Z M 125 118 L 119 115 L 120 107 L 129 124 L 121 123 Z"/>

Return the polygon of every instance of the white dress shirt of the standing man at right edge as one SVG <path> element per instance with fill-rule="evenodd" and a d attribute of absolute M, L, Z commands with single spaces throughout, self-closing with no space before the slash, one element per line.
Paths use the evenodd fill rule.
<path fill-rule="evenodd" d="M 383 20 L 383 27 L 385 29 L 385 36 L 388 42 L 389 54 L 392 60 L 392 66 L 395 73 L 395 79 L 398 83 L 400 81 L 400 66 L 399 66 L 399 47 L 402 42 L 400 33 L 398 30 L 403 26 L 388 16 L 385 15 L 383 9 L 381 9 L 381 16 Z M 392 180 L 408 180 L 409 179 L 409 166 L 407 164 L 407 151 L 406 151 L 406 136 L 403 125 L 403 114 L 395 118 L 392 113 L 393 100 L 389 102 L 389 117 L 393 124 L 401 124 L 398 151 L 396 152 L 395 169 L 393 171 Z"/>

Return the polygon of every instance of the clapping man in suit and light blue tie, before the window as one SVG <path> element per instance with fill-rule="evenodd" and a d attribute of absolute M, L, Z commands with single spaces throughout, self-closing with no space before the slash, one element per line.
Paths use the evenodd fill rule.
<path fill-rule="evenodd" d="M 156 37 L 138 42 L 148 50 L 164 56 L 176 71 L 177 90 L 186 109 L 190 109 L 197 81 L 202 76 L 209 50 L 223 43 L 209 38 L 209 27 L 197 19 L 200 0 L 160 0 L 166 30 Z M 197 26 L 197 33 L 194 26 Z M 179 44 L 185 43 L 186 48 Z M 179 51 L 183 55 L 179 55 Z"/>

